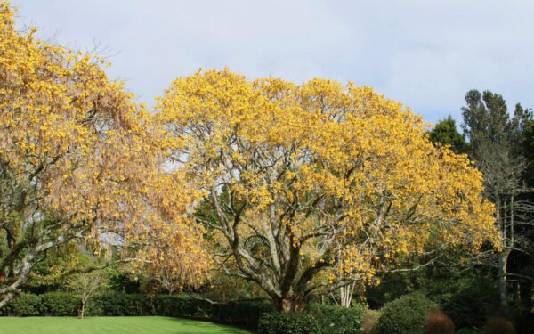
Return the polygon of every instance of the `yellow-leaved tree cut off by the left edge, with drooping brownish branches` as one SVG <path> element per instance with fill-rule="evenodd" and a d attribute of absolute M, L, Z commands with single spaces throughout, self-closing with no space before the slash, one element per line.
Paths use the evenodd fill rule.
<path fill-rule="evenodd" d="M 93 54 L 14 29 L 0 1 L 0 308 L 46 250 L 76 240 L 200 279 L 197 191 L 168 173 L 150 113 L 109 81 Z M 167 253 L 198 254 L 181 262 Z"/>

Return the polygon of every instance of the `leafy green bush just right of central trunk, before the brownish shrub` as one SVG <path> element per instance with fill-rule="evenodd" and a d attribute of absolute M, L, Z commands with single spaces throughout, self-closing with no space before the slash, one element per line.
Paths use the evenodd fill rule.
<path fill-rule="evenodd" d="M 350 308 L 320 304 L 309 306 L 309 312 L 318 320 L 321 331 L 325 334 L 359 334 L 365 311 L 363 305 Z"/>

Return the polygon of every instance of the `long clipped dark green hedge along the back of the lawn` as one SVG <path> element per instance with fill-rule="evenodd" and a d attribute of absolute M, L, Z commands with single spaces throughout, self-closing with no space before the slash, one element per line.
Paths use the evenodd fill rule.
<path fill-rule="evenodd" d="M 79 298 L 69 292 L 49 292 L 42 295 L 22 293 L 2 309 L 2 315 L 77 316 L 79 306 Z M 260 315 L 271 310 L 271 303 L 264 299 L 211 303 L 205 299 L 182 295 L 107 291 L 89 300 L 85 315 L 190 317 L 255 329 Z"/>

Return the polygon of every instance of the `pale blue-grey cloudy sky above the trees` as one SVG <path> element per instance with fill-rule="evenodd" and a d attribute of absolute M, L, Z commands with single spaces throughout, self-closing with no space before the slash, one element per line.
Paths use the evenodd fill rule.
<path fill-rule="evenodd" d="M 534 107 L 534 1 L 12 0 L 20 27 L 100 45 L 140 102 L 175 77 L 230 67 L 249 78 L 374 86 L 427 121 L 459 118 L 468 89 Z"/>

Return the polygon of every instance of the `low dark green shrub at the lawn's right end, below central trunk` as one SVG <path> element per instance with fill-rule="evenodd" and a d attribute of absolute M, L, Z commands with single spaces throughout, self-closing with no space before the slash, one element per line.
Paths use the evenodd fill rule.
<path fill-rule="evenodd" d="M 263 314 L 258 334 L 320 334 L 320 325 L 312 314 L 271 312 Z"/>

